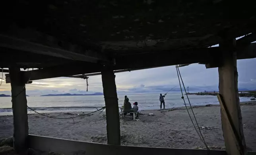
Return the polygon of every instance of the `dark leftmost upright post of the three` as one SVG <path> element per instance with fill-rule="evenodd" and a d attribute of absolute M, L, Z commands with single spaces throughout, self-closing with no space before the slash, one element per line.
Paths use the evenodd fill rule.
<path fill-rule="evenodd" d="M 14 123 L 14 149 L 23 155 L 27 153 L 28 144 L 28 121 L 27 121 L 27 98 L 25 83 L 22 80 L 17 67 L 10 67 L 12 87 L 12 112 Z"/>

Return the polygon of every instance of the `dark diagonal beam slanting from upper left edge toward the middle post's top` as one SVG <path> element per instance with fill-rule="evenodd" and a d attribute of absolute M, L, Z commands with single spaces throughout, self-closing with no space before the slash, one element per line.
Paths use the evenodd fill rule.
<path fill-rule="evenodd" d="M 38 34 L 39 32 L 37 32 Z M 40 38 L 39 38 L 40 36 Z M 44 37 L 42 37 L 44 36 Z M 51 36 L 43 34 L 33 35 L 33 38 L 22 38 L 23 36 L 8 36 L 0 34 L 0 47 L 25 51 L 41 55 L 48 55 L 68 60 L 78 60 L 93 63 L 112 63 L 104 53 L 92 51 L 71 43 L 61 43 Z M 49 41 L 54 40 L 54 41 Z"/>

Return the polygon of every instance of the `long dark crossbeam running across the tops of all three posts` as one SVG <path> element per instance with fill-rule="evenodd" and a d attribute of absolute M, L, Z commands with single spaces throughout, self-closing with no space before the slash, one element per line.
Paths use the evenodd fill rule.
<path fill-rule="evenodd" d="M 256 58 L 256 43 L 251 43 L 245 47 L 237 47 L 238 59 Z M 221 55 L 220 47 L 211 47 L 204 49 L 193 49 L 177 52 L 161 52 L 161 54 L 144 53 L 136 55 L 127 55 L 116 57 L 116 65 L 113 70 L 140 70 L 147 68 L 156 68 L 163 66 L 171 66 L 176 64 L 192 64 L 201 63 L 208 64 L 209 62 L 219 62 Z M 93 66 L 93 67 L 92 67 Z M 90 74 L 87 76 L 100 75 L 103 65 L 93 63 L 76 63 L 68 65 L 54 66 L 43 68 L 41 70 L 28 71 L 23 73 L 23 78 L 26 80 L 47 79 L 61 76 L 72 76 L 78 74 Z M 217 66 L 216 66 L 217 67 Z M 120 71 L 120 72 L 123 72 Z M 33 74 L 31 74 L 33 72 Z M 118 72 L 118 71 L 117 71 Z M 91 74 L 92 73 L 92 74 Z M 6 74 L 6 77 L 9 75 Z M 7 82 L 8 83 L 8 82 Z"/>

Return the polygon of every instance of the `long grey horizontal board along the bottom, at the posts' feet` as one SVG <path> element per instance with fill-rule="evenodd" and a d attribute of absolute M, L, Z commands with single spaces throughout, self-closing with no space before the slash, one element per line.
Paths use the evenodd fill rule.
<path fill-rule="evenodd" d="M 29 148 L 64 155 L 207 155 L 206 149 L 179 149 L 100 144 L 29 135 Z M 225 150 L 210 150 L 211 155 L 226 155 Z"/>

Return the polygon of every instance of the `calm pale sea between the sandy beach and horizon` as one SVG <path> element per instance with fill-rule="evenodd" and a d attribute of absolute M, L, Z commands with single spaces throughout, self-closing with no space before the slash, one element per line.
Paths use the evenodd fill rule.
<path fill-rule="evenodd" d="M 192 106 L 219 104 L 217 96 L 188 95 Z M 128 95 L 129 101 L 138 102 L 139 110 L 160 109 L 159 94 Z M 186 104 L 188 99 L 184 95 Z M 0 115 L 12 114 L 11 97 L 0 97 Z M 240 98 L 240 102 L 250 98 Z M 118 95 L 119 107 L 124 103 L 124 95 Z M 38 112 L 87 112 L 105 106 L 103 95 L 92 96 L 28 96 L 27 105 Z M 169 93 L 165 97 L 165 108 L 184 106 L 181 94 Z M 94 108 L 96 107 L 96 108 Z M 28 113 L 34 113 L 28 109 Z"/>

